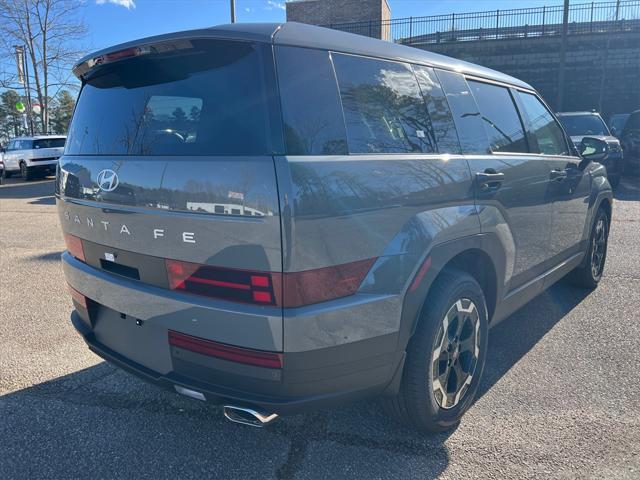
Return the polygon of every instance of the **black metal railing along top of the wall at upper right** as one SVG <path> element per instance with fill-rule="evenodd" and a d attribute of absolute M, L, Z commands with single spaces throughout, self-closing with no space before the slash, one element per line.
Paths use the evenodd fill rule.
<path fill-rule="evenodd" d="M 325 25 L 407 45 L 562 34 L 563 6 L 452 13 Z M 567 34 L 640 31 L 640 0 L 570 5 Z"/>

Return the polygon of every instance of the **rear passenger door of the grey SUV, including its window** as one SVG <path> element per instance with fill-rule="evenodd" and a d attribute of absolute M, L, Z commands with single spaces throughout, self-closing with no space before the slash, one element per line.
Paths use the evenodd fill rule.
<path fill-rule="evenodd" d="M 511 288 L 531 280 L 549 259 L 550 163 L 530 152 L 509 88 L 453 72 L 438 72 L 475 176 L 483 231 L 507 251 Z"/>

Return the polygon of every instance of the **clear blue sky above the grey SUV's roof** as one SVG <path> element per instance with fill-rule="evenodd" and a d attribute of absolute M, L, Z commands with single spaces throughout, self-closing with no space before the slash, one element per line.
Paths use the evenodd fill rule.
<path fill-rule="evenodd" d="M 87 50 L 229 23 L 229 0 L 85 0 Z M 573 0 L 582 3 L 586 0 Z M 558 5 L 562 0 L 388 0 L 392 18 Z M 284 0 L 236 0 L 238 22 L 282 22 Z"/>

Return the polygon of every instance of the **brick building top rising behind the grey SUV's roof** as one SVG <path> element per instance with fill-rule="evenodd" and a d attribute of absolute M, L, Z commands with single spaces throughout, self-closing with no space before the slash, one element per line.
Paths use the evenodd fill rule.
<path fill-rule="evenodd" d="M 287 21 L 331 25 L 372 22 L 372 37 L 389 39 L 391 10 L 387 0 L 298 0 L 287 2 Z"/>

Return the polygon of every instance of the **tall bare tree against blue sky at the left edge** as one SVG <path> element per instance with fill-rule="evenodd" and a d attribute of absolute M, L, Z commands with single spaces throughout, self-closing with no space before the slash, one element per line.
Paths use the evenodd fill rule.
<path fill-rule="evenodd" d="M 73 88 L 71 66 L 80 57 L 86 28 L 81 0 L 0 0 L 0 62 L 12 62 L 24 45 L 32 95 L 41 106 L 40 130 L 49 127 L 49 103 L 63 87 Z M 17 71 L 6 69 L 0 86 L 19 88 Z"/>

